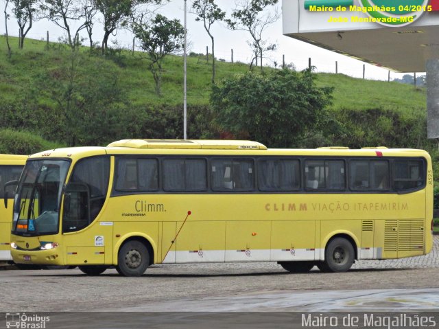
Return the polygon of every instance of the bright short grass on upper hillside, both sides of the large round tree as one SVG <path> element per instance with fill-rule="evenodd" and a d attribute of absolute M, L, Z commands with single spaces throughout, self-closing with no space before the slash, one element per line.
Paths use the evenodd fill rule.
<path fill-rule="evenodd" d="M 47 49 L 44 41 L 27 39 L 23 50 L 16 49 L 17 38 L 10 38 L 12 58 L 6 56 L 5 37 L 0 36 L 0 93 L 13 97 L 25 88 L 32 78 L 43 71 L 55 72 L 69 66 L 69 54 L 64 47 L 51 43 Z M 88 47 L 82 49 L 88 52 Z M 132 56 L 131 52 L 115 51 L 106 62 L 106 69 L 119 76 L 119 82 L 128 89 L 128 100 L 133 105 L 182 104 L 183 60 L 181 56 L 167 56 L 163 67 L 163 95 L 154 93 L 154 80 L 147 70 L 147 63 Z M 90 69 L 99 65 L 100 56 L 89 56 Z M 248 71 L 243 63 L 217 61 L 217 80 Z M 211 64 L 204 56 L 189 56 L 187 60 L 187 102 L 193 105 L 209 104 L 211 89 Z M 331 109 L 398 109 L 403 112 L 425 112 L 425 91 L 407 84 L 351 78 L 343 74 L 318 73 L 320 86 L 334 87 Z"/>

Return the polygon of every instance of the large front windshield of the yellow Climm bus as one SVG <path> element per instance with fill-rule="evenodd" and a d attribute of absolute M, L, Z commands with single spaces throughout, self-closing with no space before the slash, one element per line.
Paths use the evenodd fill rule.
<path fill-rule="evenodd" d="M 14 202 L 12 232 L 23 236 L 58 233 L 67 160 L 27 161 Z"/>

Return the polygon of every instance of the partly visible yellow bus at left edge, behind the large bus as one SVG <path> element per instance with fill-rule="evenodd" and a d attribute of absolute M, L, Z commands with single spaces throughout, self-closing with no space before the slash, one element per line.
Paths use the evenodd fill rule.
<path fill-rule="evenodd" d="M 16 184 L 8 184 L 10 181 L 17 181 L 25 166 L 26 155 L 3 155 L 0 154 L 0 198 L 14 198 Z M 5 203 L 0 203 L 0 261 L 11 261 L 11 223 L 12 206 L 6 208 Z"/>

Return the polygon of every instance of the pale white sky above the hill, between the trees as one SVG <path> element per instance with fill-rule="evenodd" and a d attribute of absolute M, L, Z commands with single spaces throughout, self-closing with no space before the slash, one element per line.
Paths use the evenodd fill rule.
<path fill-rule="evenodd" d="M 3 13 L 4 0 L 0 3 L 2 4 L 0 12 Z M 171 0 L 169 3 L 161 6 L 161 8 L 157 8 L 156 10 L 167 16 L 169 19 L 180 19 L 181 23 L 183 23 L 185 15 L 184 3 L 184 0 Z M 191 3 L 191 0 L 187 1 L 188 52 L 204 54 L 206 52 L 206 46 L 209 46 L 209 49 L 211 49 L 211 38 L 204 30 L 202 22 L 195 21 L 196 15 L 191 14 Z M 217 0 L 217 3 L 222 10 L 227 12 L 227 16 L 230 15 L 230 12 L 232 12 L 235 7 L 235 0 Z M 281 14 L 281 3 L 278 3 L 276 9 Z M 99 18 L 97 19 L 101 21 Z M 95 23 L 95 26 L 93 27 L 94 41 L 102 40 L 102 26 L 102 23 Z M 8 31 L 12 36 L 18 36 L 19 34 L 18 25 L 14 21 L 12 15 L 8 21 Z M 27 34 L 27 37 L 45 40 L 47 31 L 49 31 L 49 39 L 51 41 L 56 41 L 58 37 L 64 35 L 60 27 L 43 19 L 34 23 L 34 26 Z M 247 43 L 247 41 L 250 40 L 250 34 L 248 32 L 229 30 L 226 27 L 226 24 L 222 22 L 216 22 L 213 25 L 211 32 L 215 38 L 215 57 L 230 61 L 231 49 L 233 49 L 233 58 L 235 61 L 250 63 L 252 51 Z M 4 33 L 4 16 L 1 15 L 0 34 Z M 81 35 L 85 38 L 86 31 L 83 30 Z M 359 60 L 283 36 L 282 16 L 278 21 L 267 28 L 263 36 L 270 41 L 270 43 L 276 43 L 278 45 L 274 52 L 265 54 L 267 58 L 264 59 L 264 65 L 274 65 L 274 62 L 281 65 L 283 55 L 285 55 L 285 63 L 294 64 L 298 70 L 305 69 L 308 66 L 308 58 L 311 58 L 311 65 L 316 67 L 317 72 L 335 73 L 335 61 L 337 61 L 338 73 L 344 73 L 356 78 L 361 78 L 363 75 L 364 63 Z M 132 47 L 132 34 L 126 30 L 118 30 L 117 35 L 115 37 L 113 36 L 110 40 L 115 39 L 117 39 L 119 46 L 127 48 Z M 84 44 L 88 45 L 88 41 L 84 41 Z M 112 47 L 113 43 L 109 42 L 108 45 Z M 390 72 L 391 79 L 401 78 L 402 76 L 403 73 Z M 388 80 L 388 70 L 366 64 L 366 78 Z"/>

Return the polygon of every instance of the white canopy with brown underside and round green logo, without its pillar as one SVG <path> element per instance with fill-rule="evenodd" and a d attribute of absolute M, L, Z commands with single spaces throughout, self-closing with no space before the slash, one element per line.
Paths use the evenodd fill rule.
<path fill-rule="evenodd" d="M 418 0 L 422 4 L 417 9 L 421 10 L 406 12 L 406 16 L 416 16 L 412 23 L 387 26 L 374 21 L 374 16 L 364 9 L 365 5 L 374 5 L 373 1 L 385 3 L 385 0 L 284 0 L 283 34 L 394 71 L 423 72 L 427 60 L 439 58 L 439 12 L 435 3 L 439 1 Z M 406 0 L 392 1 L 397 11 Z M 312 3 L 320 3 L 325 11 L 318 11 L 318 6 L 310 7 Z M 388 16 L 398 15 L 390 12 Z"/>

